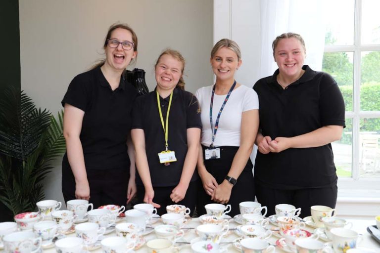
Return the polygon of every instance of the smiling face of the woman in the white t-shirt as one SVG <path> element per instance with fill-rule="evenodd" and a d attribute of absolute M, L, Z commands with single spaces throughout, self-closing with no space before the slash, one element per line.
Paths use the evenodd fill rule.
<path fill-rule="evenodd" d="M 221 47 L 210 59 L 212 71 L 219 81 L 234 80 L 235 71 L 241 65 L 238 55 L 228 47 Z"/>

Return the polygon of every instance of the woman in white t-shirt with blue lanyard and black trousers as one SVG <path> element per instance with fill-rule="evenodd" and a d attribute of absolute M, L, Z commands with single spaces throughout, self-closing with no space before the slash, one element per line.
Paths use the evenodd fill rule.
<path fill-rule="evenodd" d="M 201 107 L 202 136 L 197 169 L 197 212 L 209 203 L 231 204 L 230 215 L 239 213 L 239 203 L 254 201 L 254 180 L 249 156 L 259 126 L 256 92 L 235 81 L 241 65 L 238 44 L 222 39 L 211 51 L 215 85 L 196 91 Z"/>

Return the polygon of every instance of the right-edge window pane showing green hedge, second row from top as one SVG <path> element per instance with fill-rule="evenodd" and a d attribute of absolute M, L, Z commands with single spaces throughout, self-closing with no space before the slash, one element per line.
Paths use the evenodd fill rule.
<path fill-rule="evenodd" d="M 380 111 L 380 51 L 362 52 L 360 110 Z"/>

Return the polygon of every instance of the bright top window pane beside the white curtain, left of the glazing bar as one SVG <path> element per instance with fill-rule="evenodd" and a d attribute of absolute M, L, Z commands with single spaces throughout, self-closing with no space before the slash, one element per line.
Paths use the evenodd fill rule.
<path fill-rule="evenodd" d="M 328 1 L 325 45 L 354 44 L 354 0 Z"/>

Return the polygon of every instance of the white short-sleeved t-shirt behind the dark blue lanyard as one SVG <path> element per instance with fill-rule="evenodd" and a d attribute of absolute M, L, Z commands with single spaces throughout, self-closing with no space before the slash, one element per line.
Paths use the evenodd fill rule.
<path fill-rule="evenodd" d="M 216 118 L 222 104 L 227 96 L 214 93 L 214 103 L 212 108 L 212 131 L 210 125 L 210 102 L 212 88 L 214 85 L 201 87 L 195 92 L 195 96 L 200 104 L 200 118 L 202 120 L 201 143 L 210 146 L 212 134 L 215 127 Z M 256 91 L 247 86 L 240 85 L 235 88 L 223 108 L 219 119 L 218 130 L 215 135 L 214 146 L 240 146 L 241 114 L 245 111 L 259 109 L 259 99 Z"/>

